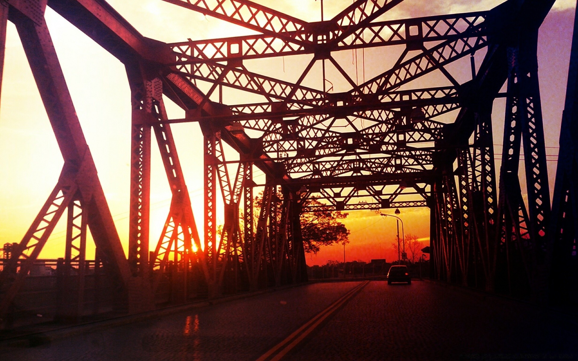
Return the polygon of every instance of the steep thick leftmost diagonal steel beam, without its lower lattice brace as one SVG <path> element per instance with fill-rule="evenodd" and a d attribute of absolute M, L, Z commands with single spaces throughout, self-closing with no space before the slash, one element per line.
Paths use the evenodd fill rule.
<path fill-rule="evenodd" d="M 43 11 L 41 12 L 43 13 Z M 80 122 L 72 103 L 68 87 L 62 75 L 56 51 L 51 42 L 50 33 L 43 18 L 35 21 L 19 12 L 10 12 L 12 21 L 22 40 L 32 75 L 38 85 L 40 97 L 53 127 L 65 163 L 76 167 L 84 179 L 79 184 L 81 192 L 90 195 L 85 199 L 90 210 L 88 226 L 97 247 L 102 251 L 107 265 L 112 271 L 127 282 L 129 278 L 128 263 L 101 184 L 97 170 L 92 161 L 90 150 L 84 139 Z"/>

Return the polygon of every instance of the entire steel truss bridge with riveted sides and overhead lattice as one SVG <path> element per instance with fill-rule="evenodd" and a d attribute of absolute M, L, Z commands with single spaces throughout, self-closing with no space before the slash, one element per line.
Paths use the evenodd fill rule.
<path fill-rule="evenodd" d="M 46 312 L 54 319 L 79 319 L 151 310 L 161 300 L 187 302 L 302 282 L 307 276 L 299 214 L 397 207 L 429 208 L 433 277 L 538 303 L 576 305 L 578 44 L 572 44 L 552 202 L 536 58 L 538 30 L 554 0 L 507 0 L 487 11 L 401 20 L 381 19 L 402 0 L 356 0 L 315 23 L 248 0 L 164 1 L 258 35 L 167 44 L 139 34 L 104 0 L 0 0 L 0 39 L 5 42 L 7 21 L 16 25 L 65 161 L 28 232 L 20 243 L 5 246 L 4 327 L 17 325 L 34 307 L 52 307 Z M 46 6 L 127 71 L 128 259 L 51 42 Z M 397 61 L 363 83 L 335 55 L 391 46 L 404 49 Z M 254 59 L 303 54 L 310 62 L 297 81 L 251 68 Z M 3 64 L 3 53 L 0 58 Z M 454 78 L 454 62 L 471 69 L 471 80 Z M 323 84 L 304 85 L 320 63 Z M 349 90 L 328 89 L 325 66 L 333 66 Z M 424 87 L 425 75 L 438 79 L 436 86 Z M 186 117 L 170 119 L 163 96 Z M 239 103 L 247 98 L 262 101 Z M 506 100 L 499 173 L 491 117 L 496 98 Z M 203 237 L 171 131 L 179 122 L 198 122 L 203 133 Z M 154 250 L 153 135 L 172 191 Z M 238 152 L 235 160 L 225 159 L 225 143 Z M 525 185 L 518 179 L 521 146 Z M 266 174 L 260 209 L 253 207 L 256 169 Z M 320 203 L 305 202 L 312 198 Z M 217 232 L 221 200 L 224 225 Z M 36 302 L 26 296 L 34 288 L 29 272 L 61 217 L 65 255 L 55 261 L 51 296 Z M 87 228 L 95 260 L 86 259 Z M 56 301 L 41 304 L 47 299 Z"/>

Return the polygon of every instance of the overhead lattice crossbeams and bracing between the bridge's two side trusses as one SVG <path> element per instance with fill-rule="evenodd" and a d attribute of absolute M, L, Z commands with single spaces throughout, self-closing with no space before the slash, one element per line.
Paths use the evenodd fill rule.
<path fill-rule="evenodd" d="M 325 38 L 308 36 L 317 40 L 312 43 L 287 39 L 287 35 L 296 39 L 298 31 L 294 34 L 277 31 L 273 35 L 271 28 L 261 26 L 263 35 L 172 44 L 177 57 L 175 66 L 193 80 L 265 96 L 268 100 L 265 103 L 232 105 L 229 106 L 231 116 L 208 120 L 228 121 L 243 129 L 258 131 L 262 151 L 283 163 L 292 178 L 431 170 L 431 146 L 442 136 L 444 125 L 432 118 L 460 107 L 459 84 L 443 66 L 486 46 L 484 21 L 488 13 L 372 23 L 397 3 L 357 1 L 332 20 L 304 24 L 304 29 L 320 29 L 323 25 L 324 31 L 331 33 Z M 189 3 L 186 7 L 198 10 L 195 8 L 198 5 Z M 237 6 L 223 2 L 225 5 Z M 249 2 L 246 5 L 260 6 Z M 261 9 L 273 13 L 270 9 Z M 210 14 L 256 29 L 246 18 L 243 23 L 238 14 L 224 17 L 224 10 L 219 11 L 220 14 Z M 208 14 L 205 10 L 201 12 Z M 353 17 L 358 20 L 355 25 Z M 433 46 L 428 49 L 427 43 Z M 355 84 L 331 55 L 332 51 L 399 44 L 405 44 L 406 50 L 396 64 L 365 84 Z M 419 54 L 408 58 L 412 50 L 418 50 Z M 296 83 L 258 75 L 249 70 L 249 63 L 243 63 L 253 58 L 297 54 L 314 54 L 314 58 Z M 331 62 L 351 85 L 351 91 L 334 94 L 301 85 L 318 60 L 323 61 L 324 66 L 326 60 Z M 434 70 L 439 70 L 453 87 L 397 90 Z M 209 92 L 216 91 L 214 85 Z M 227 103 L 227 99 L 222 101 Z M 416 150 L 419 155 L 414 155 L 412 148 L 428 143 L 429 149 Z M 301 164 L 307 166 L 304 168 Z M 414 201 L 425 204 L 424 198 Z"/>

